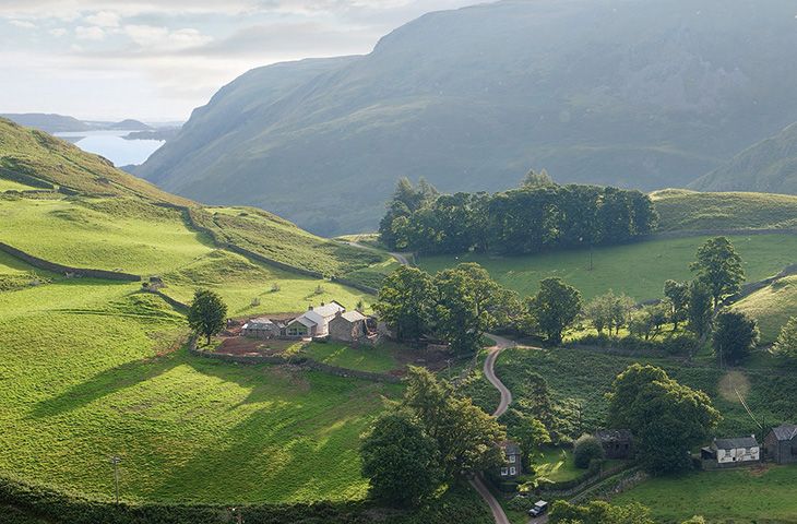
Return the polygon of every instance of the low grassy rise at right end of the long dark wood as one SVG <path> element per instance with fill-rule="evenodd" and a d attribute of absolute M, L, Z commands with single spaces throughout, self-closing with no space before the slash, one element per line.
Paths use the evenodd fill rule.
<path fill-rule="evenodd" d="M 794 195 L 667 189 L 651 198 L 663 231 L 797 228 Z"/>

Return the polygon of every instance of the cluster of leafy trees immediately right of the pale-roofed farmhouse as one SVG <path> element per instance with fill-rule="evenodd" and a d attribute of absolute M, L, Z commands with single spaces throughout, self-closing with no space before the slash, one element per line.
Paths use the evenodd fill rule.
<path fill-rule="evenodd" d="M 400 341 L 439 336 L 455 353 L 469 354 L 487 330 L 513 322 L 519 303 L 484 267 L 466 263 L 435 276 L 402 266 L 382 282 L 373 309 Z"/>

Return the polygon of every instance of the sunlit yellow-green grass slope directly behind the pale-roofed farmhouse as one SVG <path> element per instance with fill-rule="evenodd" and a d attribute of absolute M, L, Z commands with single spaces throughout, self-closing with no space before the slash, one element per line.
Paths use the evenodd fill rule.
<path fill-rule="evenodd" d="M 366 305 L 374 300 L 340 284 L 288 273 L 221 250 L 166 273 L 164 281 L 167 287 L 163 291 L 182 302 L 190 302 L 198 287 L 215 290 L 231 317 L 300 312 L 308 305 L 331 300 L 354 309 L 360 300 Z"/>

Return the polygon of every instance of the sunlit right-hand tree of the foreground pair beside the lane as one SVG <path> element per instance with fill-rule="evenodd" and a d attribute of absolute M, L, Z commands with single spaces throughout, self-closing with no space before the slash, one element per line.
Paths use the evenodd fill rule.
<path fill-rule="evenodd" d="M 417 417 L 425 432 L 438 444 L 445 478 L 499 467 L 503 463 L 495 445 L 507 438 L 498 421 L 456 396 L 424 368 L 411 367 L 402 405 Z"/>

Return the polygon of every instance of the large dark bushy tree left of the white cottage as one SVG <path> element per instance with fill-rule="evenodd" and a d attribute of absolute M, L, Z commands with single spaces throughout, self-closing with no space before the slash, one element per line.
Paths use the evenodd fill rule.
<path fill-rule="evenodd" d="M 640 461 L 652 474 L 691 467 L 690 450 L 704 442 L 722 418 L 705 393 L 653 366 L 630 366 L 615 379 L 607 397 L 608 424 L 634 433 Z"/>

